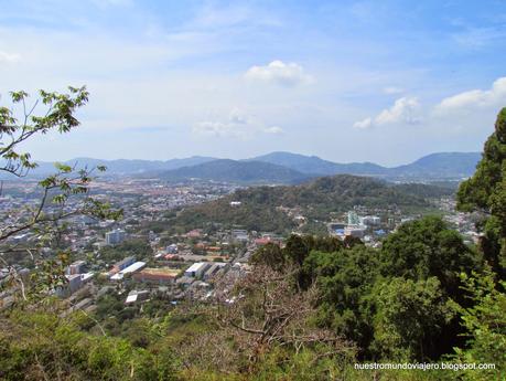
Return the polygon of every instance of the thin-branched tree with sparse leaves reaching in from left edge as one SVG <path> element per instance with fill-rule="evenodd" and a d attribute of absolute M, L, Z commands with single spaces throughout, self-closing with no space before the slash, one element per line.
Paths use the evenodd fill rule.
<path fill-rule="evenodd" d="M 22 151 L 26 140 L 53 130 L 65 134 L 79 126 L 75 112 L 86 105 L 88 92 L 85 87 L 68 87 L 68 94 L 40 91 L 40 98 L 32 105 L 28 105 L 28 93 L 10 93 L 10 105 L 0 107 L 0 173 L 25 177 L 30 170 L 37 167 L 31 155 Z M 21 109 L 20 117 L 15 116 L 15 109 Z M 39 182 L 39 203 L 35 207 L 9 211 L 10 223 L 0 226 L 0 261 L 9 268 L 12 284 L 20 289 L 24 299 L 26 293 L 23 279 L 17 267 L 4 260 L 6 254 L 21 252 L 30 255 L 39 266 L 36 275 L 42 278 L 42 271 L 51 262 L 40 261 L 37 250 L 43 246 L 58 248 L 60 233 L 66 227 L 66 219 L 77 214 L 98 219 L 119 218 L 121 214 L 120 211 L 112 210 L 110 204 L 100 202 L 89 194 L 94 172 L 104 171 L 105 167 L 77 169 L 55 163 L 55 170 L 54 174 Z M 10 243 L 11 237 L 26 232 L 33 235 L 32 241 L 36 242 L 36 245 L 20 246 Z M 57 266 L 56 272 L 45 277 L 45 287 L 32 289 L 46 292 L 65 282 L 61 264 L 68 258 L 68 253 L 58 252 L 58 261 L 54 263 Z"/>

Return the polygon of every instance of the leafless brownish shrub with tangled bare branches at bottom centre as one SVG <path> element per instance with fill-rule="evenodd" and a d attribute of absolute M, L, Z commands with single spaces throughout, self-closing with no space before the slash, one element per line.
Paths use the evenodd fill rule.
<path fill-rule="evenodd" d="M 249 371 L 276 350 L 284 349 L 289 358 L 310 350 L 315 362 L 354 352 L 342 337 L 311 324 L 316 288 L 300 290 L 294 272 L 294 267 L 274 271 L 257 265 L 234 288 L 217 287 L 216 320 L 223 329 L 218 334 L 233 338 Z"/>

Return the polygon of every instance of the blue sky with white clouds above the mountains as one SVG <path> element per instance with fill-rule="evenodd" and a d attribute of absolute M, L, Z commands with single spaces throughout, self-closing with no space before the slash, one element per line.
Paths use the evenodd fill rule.
<path fill-rule="evenodd" d="M 0 0 L 9 92 L 86 85 L 37 160 L 249 158 L 395 166 L 481 151 L 506 106 L 506 2 Z M 35 112 L 43 113 L 42 107 Z"/>

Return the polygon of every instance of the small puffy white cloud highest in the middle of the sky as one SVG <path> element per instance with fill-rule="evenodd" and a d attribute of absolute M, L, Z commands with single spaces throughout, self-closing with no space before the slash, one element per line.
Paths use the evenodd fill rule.
<path fill-rule="evenodd" d="M 282 61 L 272 61 L 265 66 L 252 66 L 246 74 L 250 81 L 266 82 L 286 87 L 310 83 L 312 77 L 304 73 L 301 65 L 297 63 L 284 63 Z"/>

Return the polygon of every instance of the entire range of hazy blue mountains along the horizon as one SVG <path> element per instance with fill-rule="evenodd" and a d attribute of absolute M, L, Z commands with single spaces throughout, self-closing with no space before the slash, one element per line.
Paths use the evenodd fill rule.
<path fill-rule="evenodd" d="M 169 181 L 202 179 L 244 183 L 298 183 L 310 178 L 358 174 L 396 181 L 460 180 L 473 174 L 481 159 L 478 152 L 438 152 L 411 163 L 383 167 L 374 162 L 337 163 L 291 152 L 271 152 L 244 160 L 193 156 L 172 160 L 100 160 L 77 158 L 66 161 L 76 168 L 104 165 L 109 176 L 152 177 Z M 50 162 L 39 162 L 31 176 L 54 172 Z"/>

